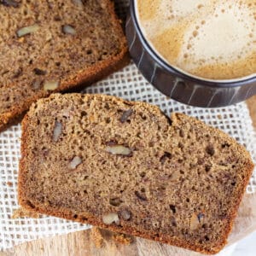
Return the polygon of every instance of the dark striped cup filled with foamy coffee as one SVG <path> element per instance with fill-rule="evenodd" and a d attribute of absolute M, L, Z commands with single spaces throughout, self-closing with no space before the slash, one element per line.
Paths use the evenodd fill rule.
<path fill-rule="evenodd" d="M 155 15 L 150 13 L 152 9 L 148 6 L 154 2 L 183 3 L 164 0 L 130 2 L 125 24 L 129 50 L 150 84 L 177 102 L 202 108 L 229 106 L 256 94 L 256 41 L 253 32 L 250 33 L 254 23 L 239 17 L 238 25 L 234 23 L 236 20 L 230 21 L 229 18 L 234 16 L 232 12 L 240 15 L 240 9 L 236 9 L 235 4 L 223 7 L 219 3 L 217 7 L 212 7 L 210 2 L 218 1 L 185 0 L 183 6 L 176 6 L 176 9 L 171 6 L 172 13 L 169 12 L 170 6 L 166 9 L 163 5 L 162 9 L 154 6 L 154 12 L 156 9 L 159 11 Z M 229 1 L 219 2 L 226 4 Z M 241 12 L 242 15 L 244 13 Z M 150 20 L 152 17 L 154 20 Z M 226 20 L 227 24 L 223 24 Z M 233 34 L 230 26 L 234 26 Z M 214 32 L 218 32 L 218 39 L 214 37 Z M 236 41 L 226 45 L 230 37 Z M 215 39 L 219 45 L 215 44 Z M 247 47 L 241 47 L 243 44 Z M 166 45 L 169 46 L 167 50 Z M 243 53 L 241 49 L 246 51 Z"/>

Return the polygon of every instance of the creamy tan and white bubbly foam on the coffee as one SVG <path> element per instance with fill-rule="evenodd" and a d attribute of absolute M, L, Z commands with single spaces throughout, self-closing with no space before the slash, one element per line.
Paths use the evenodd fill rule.
<path fill-rule="evenodd" d="M 137 0 L 137 16 L 173 67 L 204 79 L 256 74 L 255 0 Z"/>

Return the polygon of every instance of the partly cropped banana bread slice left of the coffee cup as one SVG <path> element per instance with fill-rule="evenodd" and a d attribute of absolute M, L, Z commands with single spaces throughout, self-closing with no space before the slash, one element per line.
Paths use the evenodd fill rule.
<path fill-rule="evenodd" d="M 38 98 L 92 84 L 128 60 L 109 0 L 3 0 L 0 13 L 0 130 Z"/>

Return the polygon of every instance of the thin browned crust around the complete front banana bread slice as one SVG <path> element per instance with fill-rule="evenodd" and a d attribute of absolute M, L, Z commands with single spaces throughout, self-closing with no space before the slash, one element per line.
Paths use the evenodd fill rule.
<path fill-rule="evenodd" d="M 52 95 L 50 97 L 54 97 L 55 95 Z M 102 96 L 102 95 L 90 95 L 89 97 L 96 97 L 98 99 L 101 99 L 102 97 L 104 98 L 113 98 L 113 96 Z M 116 98 L 117 101 L 121 102 L 127 102 L 123 99 Z M 43 100 L 40 100 L 40 103 L 43 103 Z M 134 105 L 134 104 L 140 104 L 140 106 L 143 106 L 145 108 L 154 108 L 155 112 L 160 111 L 159 108 L 155 106 L 150 106 L 148 103 L 144 102 L 129 102 L 129 104 Z M 30 126 L 30 115 L 33 113 L 33 108 L 26 114 L 25 118 L 22 121 L 22 138 L 21 138 L 21 160 L 20 160 L 20 172 L 19 172 L 19 182 L 18 182 L 18 198 L 19 198 L 19 203 L 21 207 L 26 208 L 27 210 L 31 212 L 40 212 L 42 214 L 48 214 L 48 215 L 53 215 L 55 217 L 59 218 L 66 218 L 70 219 L 73 221 L 78 221 L 80 223 L 84 224 L 92 224 L 96 225 L 102 229 L 106 230 L 112 230 L 114 232 L 120 232 L 124 233 L 127 235 L 131 236 L 140 236 L 146 239 L 154 240 L 154 241 L 160 241 L 160 242 L 165 242 L 169 245 L 176 246 L 176 247 L 184 247 L 190 250 L 194 250 L 199 253 L 205 253 L 205 254 L 215 254 L 218 253 L 226 244 L 227 244 L 227 238 L 230 234 L 230 231 L 232 229 L 232 224 L 234 223 L 234 220 L 236 218 L 237 210 L 238 207 L 241 203 L 241 198 L 245 193 L 247 183 L 249 181 L 249 178 L 252 175 L 253 172 L 253 161 L 251 160 L 250 154 L 247 152 L 246 148 L 242 147 L 240 144 L 236 142 L 234 138 L 229 137 L 226 135 L 223 131 L 219 131 L 218 129 L 215 129 L 213 127 L 207 126 L 208 131 L 211 131 L 212 134 L 217 134 L 219 137 L 223 137 L 225 141 L 232 143 L 233 145 L 236 145 L 236 148 L 241 154 L 243 155 L 244 159 L 246 160 L 245 164 L 245 174 L 246 177 L 244 177 L 243 180 L 241 180 L 241 183 L 239 184 L 239 188 L 237 189 L 238 193 L 237 198 L 234 198 L 236 200 L 236 207 L 230 209 L 230 215 L 227 220 L 227 225 L 225 226 L 225 231 L 224 231 L 224 236 L 219 237 L 218 245 L 215 245 L 214 247 L 206 249 L 205 247 L 200 247 L 199 245 L 195 245 L 190 243 L 189 241 L 182 240 L 178 237 L 173 236 L 172 238 L 163 236 L 160 234 L 160 236 L 154 236 L 154 234 L 150 234 L 147 232 L 147 230 L 136 230 L 131 227 L 125 228 L 125 230 L 118 225 L 107 225 L 102 222 L 101 219 L 95 218 L 92 214 L 83 212 L 83 216 L 74 216 L 73 212 L 65 209 L 65 208 L 57 208 L 57 207 L 42 207 L 42 206 L 35 206 L 32 207 L 29 203 L 29 201 L 26 200 L 26 186 L 24 186 L 25 181 L 26 181 L 26 172 L 27 170 L 27 156 L 28 156 L 28 150 L 27 150 L 27 143 L 30 142 L 31 137 L 28 134 L 28 128 Z M 164 115 L 164 114 L 163 114 Z M 201 126 L 202 124 L 204 127 L 206 125 L 201 122 L 198 119 L 189 117 L 183 113 L 172 113 L 172 125 L 176 125 L 178 122 L 182 121 L 183 119 L 189 120 L 190 124 L 193 125 L 199 125 Z M 171 123 L 170 123 L 171 124 Z"/>

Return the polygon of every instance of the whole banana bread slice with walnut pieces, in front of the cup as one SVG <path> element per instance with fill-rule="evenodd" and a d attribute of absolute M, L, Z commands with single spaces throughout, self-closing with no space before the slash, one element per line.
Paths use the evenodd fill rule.
<path fill-rule="evenodd" d="M 34 103 L 21 153 L 22 207 L 201 253 L 224 247 L 253 171 L 224 132 L 102 95 Z"/>

